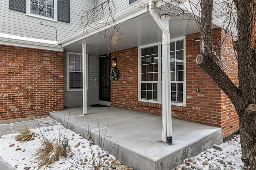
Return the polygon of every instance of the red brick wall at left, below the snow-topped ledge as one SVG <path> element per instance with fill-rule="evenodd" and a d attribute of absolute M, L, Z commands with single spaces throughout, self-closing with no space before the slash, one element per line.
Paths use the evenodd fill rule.
<path fill-rule="evenodd" d="M 63 105 L 62 52 L 0 45 L 0 123 L 45 117 Z"/>

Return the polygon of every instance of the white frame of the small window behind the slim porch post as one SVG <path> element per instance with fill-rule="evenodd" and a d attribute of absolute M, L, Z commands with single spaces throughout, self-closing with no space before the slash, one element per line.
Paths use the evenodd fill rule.
<path fill-rule="evenodd" d="M 66 86 L 67 86 L 67 91 L 83 91 L 83 88 L 80 88 L 80 89 L 70 89 L 69 87 L 69 54 L 75 54 L 75 55 L 82 55 L 82 53 L 71 53 L 71 52 L 67 52 L 66 53 L 66 77 L 67 77 L 67 81 L 66 81 Z M 88 91 L 89 90 L 89 56 L 88 54 L 86 55 L 86 78 L 87 78 L 87 81 L 86 81 L 86 90 Z"/>

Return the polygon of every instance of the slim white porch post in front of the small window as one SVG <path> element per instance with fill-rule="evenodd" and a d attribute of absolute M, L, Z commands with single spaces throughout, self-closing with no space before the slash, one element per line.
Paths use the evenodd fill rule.
<path fill-rule="evenodd" d="M 87 69 L 86 69 L 86 65 L 87 65 L 87 60 L 86 60 L 86 44 L 82 44 L 82 67 L 83 67 L 83 115 L 87 114 Z"/>

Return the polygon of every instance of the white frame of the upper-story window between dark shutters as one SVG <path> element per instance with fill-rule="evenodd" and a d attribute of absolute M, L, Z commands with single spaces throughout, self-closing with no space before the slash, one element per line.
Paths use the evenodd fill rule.
<path fill-rule="evenodd" d="M 37 15 L 37 14 L 31 14 L 31 11 L 30 11 L 30 2 L 31 2 L 31 0 L 27 0 L 26 1 L 27 2 L 26 3 L 26 15 L 27 16 L 32 16 L 32 17 L 35 17 L 35 18 L 41 18 L 43 20 L 57 22 L 57 12 L 58 12 L 57 1 L 58 0 L 54 0 L 53 1 L 53 10 L 54 10 L 53 19 L 52 18 L 48 18 L 46 16 L 40 16 L 40 15 Z"/>

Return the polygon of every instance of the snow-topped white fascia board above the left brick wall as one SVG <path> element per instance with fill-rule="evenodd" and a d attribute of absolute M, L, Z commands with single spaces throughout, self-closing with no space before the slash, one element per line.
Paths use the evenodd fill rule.
<path fill-rule="evenodd" d="M 63 47 L 61 45 L 58 45 L 56 41 L 14 36 L 2 33 L 0 33 L 0 44 L 36 49 L 46 49 L 52 51 L 63 51 Z"/>

